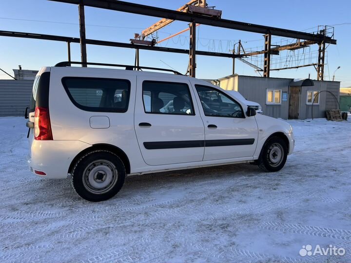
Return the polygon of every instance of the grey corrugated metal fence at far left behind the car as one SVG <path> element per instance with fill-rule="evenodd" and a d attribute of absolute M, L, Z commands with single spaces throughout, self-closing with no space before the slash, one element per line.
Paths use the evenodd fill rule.
<path fill-rule="evenodd" d="M 34 80 L 0 79 L 0 116 L 24 116 Z"/>

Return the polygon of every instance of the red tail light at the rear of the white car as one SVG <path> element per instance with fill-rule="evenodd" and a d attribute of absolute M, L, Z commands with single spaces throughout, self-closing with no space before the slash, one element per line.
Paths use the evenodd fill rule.
<path fill-rule="evenodd" d="M 51 123 L 49 109 L 36 107 L 34 113 L 34 139 L 52 140 Z"/>

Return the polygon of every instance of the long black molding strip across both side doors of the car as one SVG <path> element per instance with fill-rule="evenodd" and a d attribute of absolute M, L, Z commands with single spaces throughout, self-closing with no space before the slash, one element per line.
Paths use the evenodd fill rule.
<path fill-rule="evenodd" d="M 177 148 L 195 148 L 195 147 L 252 145 L 252 144 L 254 144 L 254 139 L 144 142 L 143 144 L 147 150 L 156 150 L 156 149 L 177 149 Z"/>

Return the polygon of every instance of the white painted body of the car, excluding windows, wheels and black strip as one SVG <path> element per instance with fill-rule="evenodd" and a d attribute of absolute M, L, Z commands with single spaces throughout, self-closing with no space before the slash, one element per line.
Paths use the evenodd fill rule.
<path fill-rule="evenodd" d="M 195 84 L 213 87 L 234 98 L 246 114 L 247 101 L 219 87 L 195 78 L 181 75 L 140 71 L 47 67 L 38 75 L 50 71 L 49 112 L 53 140 L 34 140 L 30 131 L 30 155 L 28 164 L 32 170 L 43 171 L 46 178 L 66 178 L 72 161 L 80 152 L 94 145 L 112 145 L 122 150 L 129 159 L 130 174 L 188 169 L 211 165 L 252 162 L 259 157 L 265 140 L 274 132 L 282 132 L 292 142 L 289 124 L 282 120 L 257 114 L 245 118 L 205 116 Z M 89 112 L 77 108 L 68 97 L 61 79 L 71 77 L 117 78 L 130 81 L 130 99 L 125 113 Z M 145 113 L 142 101 L 142 81 L 156 80 L 187 83 L 193 99 L 195 115 L 169 115 Z M 145 98 L 145 96 L 144 96 Z M 150 107 L 147 102 L 146 107 Z M 34 113 L 29 113 L 33 120 Z M 139 123 L 151 123 L 151 127 L 139 127 Z M 217 129 L 209 130 L 207 125 Z M 262 130 L 262 131 L 261 131 Z M 147 150 L 145 141 L 188 141 L 227 138 L 254 138 L 252 145 L 225 147 L 195 147 Z"/>

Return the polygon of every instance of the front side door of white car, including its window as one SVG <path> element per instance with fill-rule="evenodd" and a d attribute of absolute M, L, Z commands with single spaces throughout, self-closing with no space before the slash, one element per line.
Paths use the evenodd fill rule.
<path fill-rule="evenodd" d="M 247 117 L 243 105 L 220 89 L 195 84 L 195 90 L 205 126 L 203 160 L 253 156 L 258 136 L 255 118 Z"/>

